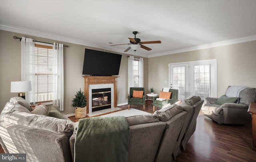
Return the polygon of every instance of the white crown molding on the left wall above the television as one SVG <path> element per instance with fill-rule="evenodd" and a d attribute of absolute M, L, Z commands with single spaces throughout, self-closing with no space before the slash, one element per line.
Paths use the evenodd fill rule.
<path fill-rule="evenodd" d="M 50 33 L 46 33 L 46 32 L 40 32 L 37 30 L 31 30 L 31 29 L 27 29 L 27 28 L 20 28 L 17 26 L 9 26 L 6 24 L 0 24 L 0 30 L 6 30 L 9 32 L 16 32 L 16 33 L 20 33 L 20 34 L 26 34 L 26 35 L 30 35 L 30 36 L 38 36 L 41 38 L 47 38 L 47 39 L 51 39 L 51 40 L 58 40 L 61 42 L 67 42 L 67 43 L 72 43 L 72 44 L 79 44 L 82 46 L 88 46 L 88 47 L 94 47 L 94 48 L 101 48 L 104 50 L 108 50 L 108 51 L 112 51 L 112 52 L 119 52 L 122 54 L 130 54 L 130 55 L 134 55 L 133 51 L 129 51 L 124 53 L 123 50 L 117 49 L 117 48 L 112 48 L 109 46 L 103 46 L 100 44 L 94 44 L 94 43 L 90 43 L 90 42 L 86 42 L 86 41 L 82 41 L 82 40 L 78 40 L 78 39 L 73 39 L 73 38 L 68 38 L 68 37 L 64 37 L 64 36 L 59 36 L 59 35 L 55 35 L 55 34 L 50 34 Z M 70 45 L 69 45 L 70 46 Z M 141 56 L 141 57 L 146 57 L 148 58 L 148 55 L 146 54 L 136 54 L 137 56 Z"/>

